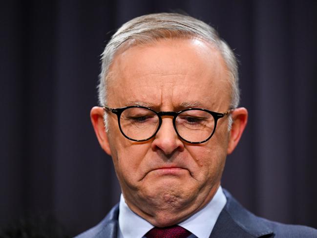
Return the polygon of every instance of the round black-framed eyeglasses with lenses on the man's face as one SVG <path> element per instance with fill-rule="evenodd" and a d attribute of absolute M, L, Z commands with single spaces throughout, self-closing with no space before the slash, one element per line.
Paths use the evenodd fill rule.
<path fill-rule="evenodd" d="M 142 106 L 102 108 L 117 115 L 119 129 L 129 140 L 141 142 L 153 138 L 162 125 L 162 116 L 172 116 L 176 134 L 191 144 L 208 141 L 216 130 L 218 119 L 232 112 L 232 109 L 219 113 L 202 108 L 157 112 Z"/>

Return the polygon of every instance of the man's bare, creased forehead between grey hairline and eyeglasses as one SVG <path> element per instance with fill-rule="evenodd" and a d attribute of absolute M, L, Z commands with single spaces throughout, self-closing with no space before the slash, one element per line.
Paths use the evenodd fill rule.
<path fill-rule="evenodd" d="M 134 45 L 115 56 L 110 74 L 107 101 L 115 107 L 141 102 L 210 108 L 217 99 L 230 100 L 227 67 L 220 52 L 198 39 Z"/>

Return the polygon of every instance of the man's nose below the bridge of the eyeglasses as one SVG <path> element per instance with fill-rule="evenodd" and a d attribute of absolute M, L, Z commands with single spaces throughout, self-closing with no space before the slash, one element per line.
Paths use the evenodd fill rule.
<path fill-rule="evenodd" d="M 151 148 L 153 151 L 160 150 L 166 155 L 170 155 L 174 151 L 184 150 L 184 143 L 178 138 L 174 130 L 172 118 L 162 118 L 162 125 L 154 137 Z"/>

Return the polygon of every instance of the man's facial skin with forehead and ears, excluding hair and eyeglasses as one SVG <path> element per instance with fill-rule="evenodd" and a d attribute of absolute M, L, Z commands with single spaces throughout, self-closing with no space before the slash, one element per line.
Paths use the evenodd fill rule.
<path fill-rule="evenodd" d="M 165 39 L 134 45 L 120 52 L 110 67 L 107 106 L 141 105 L 156 111 L 206 108 L 225 112 L 231 88 L 219 51 L 198 39 Z M 115 82 L 115 83 L 113 83 Z M 180 140 L 172 117 L 146 142 L 125 138 L 117 116 L 94 107 L 91 120 L 101 147 L 112 156 L 129 208 L 154 226 L 179 223 L 203 208 L 220 185 L 227 154 L 237 145 L 247 122 L 247 110 L 219 119 L 212 138 L 202 144 Z"/>

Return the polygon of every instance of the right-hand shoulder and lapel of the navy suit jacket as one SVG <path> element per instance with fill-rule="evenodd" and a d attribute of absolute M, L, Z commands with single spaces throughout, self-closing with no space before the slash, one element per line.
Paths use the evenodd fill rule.
<path fill-rule="evenodd" d="M 317 230 L 314 228 L 288 225 L 279 222 L 267 220 L 265 218 L 255 216 L 238 203 L 232 195 L 224 190 L 227 197 L 227 204 L 221 212 L 215 224 L 212 234 L 215 233 L 221 237 L 224 233 L 239 234 L 234 237 L 274 237 L 274 238 L 317 238 Z M 224 227 L 227 227 L 227 230 Z"/>

